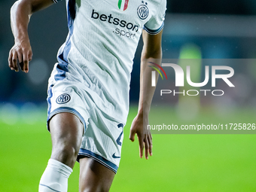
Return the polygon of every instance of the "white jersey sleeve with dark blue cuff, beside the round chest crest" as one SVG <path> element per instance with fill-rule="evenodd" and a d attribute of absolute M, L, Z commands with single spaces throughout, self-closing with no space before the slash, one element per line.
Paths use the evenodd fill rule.
<path fill-rule="evenodd" d="M 151 19 L 143 26 L 146 32 L 151 35 L 156 35 L 163 29 L 163 21 L 166 15 L 166 1 L 161 0 L 160 5 L 156 6 L 154 13 L 151 16 Z"/>

